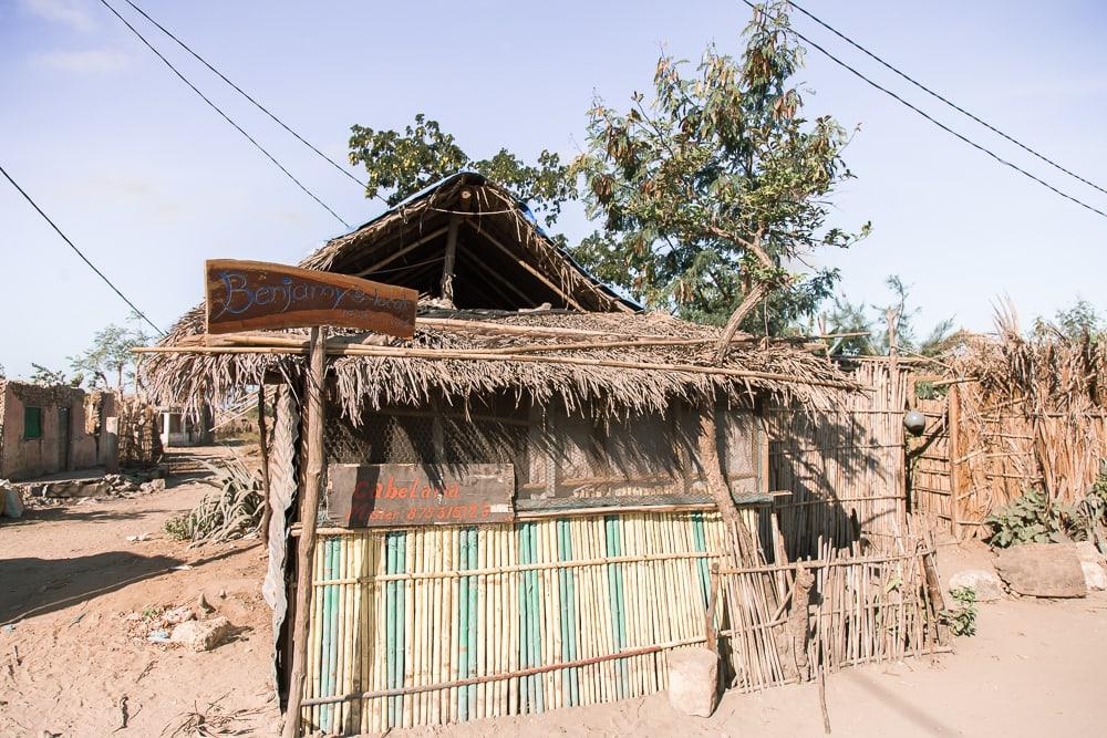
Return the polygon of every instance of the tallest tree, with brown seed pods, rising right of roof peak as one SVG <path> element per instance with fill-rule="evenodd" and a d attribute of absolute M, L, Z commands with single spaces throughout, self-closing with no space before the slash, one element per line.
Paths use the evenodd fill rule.
<path fill-rule="evenodd" d="M 827 227 L 829 198 L 851 176 L 841 158 L 848 136 L 829 116 L 801 114 L 792 77 L 803 50 L 785 8 L 758 7 L 738 61 L 710 46 L 690 72 L 662 55 L 651 101 L 634 93 L 624 113 L 598 101 L 588 150 L 573 163 L 604 227 L 577 258 L 650 308 L 700 321 L 731 315 L 728 332 L 764 328 L 754 309 L 768 295 L 777 315 L 810 314 L 838 274 L 789 269 L 869 229 Z"/>

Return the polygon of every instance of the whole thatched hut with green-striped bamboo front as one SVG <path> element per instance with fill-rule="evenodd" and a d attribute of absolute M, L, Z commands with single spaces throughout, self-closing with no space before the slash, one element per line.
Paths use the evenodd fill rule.
<path fill-rule="evenodd" d="M 312 561 L 296 555 L 311 528 L 298 505 L 311 475 L 307 333 L 206 335 L 199 306 L 144 371 L 159 402 L 185 407 L 276 385 L 263 591 L 277 684 L 304 732 L 640 696 L 665 688 L 673 649 L 714 646 L 716 625 L 734 685 L 809 678 L 806 641 L 797 655 L 779 628 L 792 611 L 807 623 L 810 584 L 789 609 L 795 567 L 779 551 L 768 565 L 773 544 L 762 543 L 774 491 L 763 408 L 829 408 L 856 394 L 846 375 L 794 344 L 742 334 L 716 364 L 720 330 L 642 312 L 475 174 L 300 266 L 420 294 L 412 339 L 337 330 L 325 342 L 327 492 Z M 880 609 L 865 596 L 838 602 L 825 627 L 848 631 L 842 648 L 856 653 L 839 654 L 831 630 L 819 637 L 836 642 L 841 663 L 888 656 L 889 644 L 894 657 L 922 647 L 934 613 L 912 593 L 914 563 L 899 570 L 896 593 L 868 595 L 896 600 L 887 627 L 902 633 L 870 622 Z M 299 574 L 311 597 L 297 617 Z M 725 602 L 705 626 L 717 581 Z M 862 653 L 853 646 L 865 633 Z M 300 638 L 302 694 L 298 675 L 289 688 Z"/>

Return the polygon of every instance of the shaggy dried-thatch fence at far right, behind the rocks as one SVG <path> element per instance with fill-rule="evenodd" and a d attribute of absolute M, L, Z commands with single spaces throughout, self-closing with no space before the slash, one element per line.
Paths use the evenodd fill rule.
<path fill-rule="evenodd" d="M 960 523 L 976 532 L 1032 487 L 1051 501 L 1079 501 L 1107 457 L 1107 346 L 1048 326 L 1026 335 L 1011 305 L 996 311 L 996 329 L 949 358 L 959 418 L 952 488 Z"/>

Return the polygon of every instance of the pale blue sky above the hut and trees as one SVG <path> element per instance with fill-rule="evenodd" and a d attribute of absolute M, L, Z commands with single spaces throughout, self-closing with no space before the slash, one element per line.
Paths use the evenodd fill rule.
<path fill-rule="evenodd" d="M 110 0 L 128 18 L 122 0 Z M 696 59 L 734 53 L 748 10 L 735 1 L 169 2 L 144 0 L 228 76 L 334 158 L 351 124 L 397 127 L 420 111 L 473 156 L 500 146 L 571 157 L 593 94 L 622 106 L 648 90 L 662 43 Z M 841 2 L 806 7 L 1015 137 L 1107 180 L 1107 7 L 1087 2 Z M 126 10 L 124 10 L 126 9 Z M 141 20 L 141 19 L 139 19 Z M 937 117 L 1107 209 L 1107 195 L 1047 169 L 851 52 L 798 14 L 797 28 Z M 345 220 L 381 210 L 156 29 L 164 53 Z M 809 114 L 860 125 L 857 175 L 836 220 L 873 235 L 820 259 L 853 300 L 913 285 L 921 328 L 955 315 L 991 326 L 1010 295 L 1024 323 L 1077 295 L 1107 306 L 1107 219 L 1047 193 L 866 87 L 810 51 Z M 0 163 L 156 323 L 195 304 L 206 258 L 296 262 L 342 227 L 283 178 L 107 13 L 99 0 L 0 0 Z M 1107 186 L 1107 185 L 1105 185 Z M 127 309 L 0 181 L 0 363 L 64 367 Z M 561 224 L 586 232 L 579 210 Z"/>

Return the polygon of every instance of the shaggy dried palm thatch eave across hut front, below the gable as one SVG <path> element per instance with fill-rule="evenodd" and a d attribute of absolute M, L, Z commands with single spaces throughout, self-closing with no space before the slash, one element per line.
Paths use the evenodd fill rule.
<path fill-rule="evenodd" d="M 163 343 L 180 353 L 144 361 L 158 402 L 229 401 L 267 375 L 290 382 L 301 375 L 303 333 L 219 339 L 201 331 L 201 316 L 186 316 Z M 663 412 L 675 399 L 700 403 L 755 392 L 829 406 L 841 391 L 856 388 L 825 360 L 788 344 L 738 341 L 715 366 L 711 352 L 718 335 L 718 329 L 661 314 L 434 311 L 416 321 L 411 341 L 337 335 L 329 372 L 335 399 L 354 420 L 366 408 L 433 399 L 464 405 L 490 394 L 625 417 Z"/>

